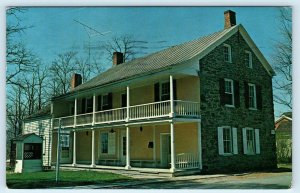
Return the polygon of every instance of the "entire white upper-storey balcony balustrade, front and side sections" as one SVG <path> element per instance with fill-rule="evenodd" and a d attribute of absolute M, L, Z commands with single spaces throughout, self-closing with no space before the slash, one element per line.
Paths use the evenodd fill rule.
<path fill-rule="evenodd" d="M 200 117 L 200 104 L 198 102 L 174 100 L 174 117 L 198 118 Z M 129 106 L 129 108 L 116 108 L 95 113 L 94 124 L 120 122 L 127 120 L 127 110 L 129 110 L 128 120 L 150 119 L 158 117 L 168 117 L 171 113 L 171 101 L 160 101 L 141 105 Z M 61 119 L 62 127 L 73 127 L 80 125 L 91 125 L 93 123 L 93 113 L 67 116 L 54 119 L 54 127 L 59 125 Z"/>

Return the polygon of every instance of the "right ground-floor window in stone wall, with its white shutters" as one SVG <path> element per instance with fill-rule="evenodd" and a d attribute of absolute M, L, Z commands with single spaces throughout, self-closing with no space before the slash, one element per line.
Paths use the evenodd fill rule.
<path fill-rule="evenodd" d="M 243 128 L 244 154 L 260 154 L 259 129 Z"/>

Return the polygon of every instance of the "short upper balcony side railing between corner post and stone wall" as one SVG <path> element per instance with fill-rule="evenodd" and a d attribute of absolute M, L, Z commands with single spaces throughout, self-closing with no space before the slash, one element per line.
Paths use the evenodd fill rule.
<path fill-rule="evenodd" d="M 200 116 L 200 104 L 191 101 L 174 101 L 174 113 L 178 116 L 198 117 Z"/>

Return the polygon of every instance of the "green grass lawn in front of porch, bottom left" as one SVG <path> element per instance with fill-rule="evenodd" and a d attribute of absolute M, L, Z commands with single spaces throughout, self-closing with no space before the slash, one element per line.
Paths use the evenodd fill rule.
<path fill-rule="evenodd" d="M 58 183 L 55 182 L 54 171 L 6 174 L 7 187 L 14 189 L 110 184 L 128 180 L 130 180 L 129 177 L 119 174 L 94 171 L 60 171 L 60 181 Z"/>

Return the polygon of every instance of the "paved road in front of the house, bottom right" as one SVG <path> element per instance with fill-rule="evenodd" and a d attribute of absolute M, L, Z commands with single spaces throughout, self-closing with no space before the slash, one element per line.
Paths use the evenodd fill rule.
<path fill-rule="evenodd" d="M 292 173 L 250 173 L 217 178 L 158 181 L 114 188 L 125 189 L 287 189 Z"/>

